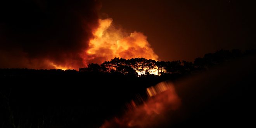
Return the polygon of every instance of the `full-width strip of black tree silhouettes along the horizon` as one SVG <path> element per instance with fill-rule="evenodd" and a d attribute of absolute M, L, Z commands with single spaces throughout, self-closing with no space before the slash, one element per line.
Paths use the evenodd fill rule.
<path fill-rule="evenodd" d="M 242 52 L 238 49 L 218 50 L 215 53 L 205 54 L 198 57 L 194 62 L 189 61 L 155 61 L 145 58 L 114 58 L 102 64 L 91 63 L 87 67 L 74 69 L 0 69 L 1 76 L 76 76 L 79 74 L 121 74 L 130 77 L 166 76 L 166 75 L 186 75 L 197 71 L 208 70 L 209 68 L 227 62 L 230 59 L 255 54 L 256 50 L 246 50 Z"/>

